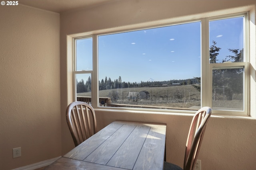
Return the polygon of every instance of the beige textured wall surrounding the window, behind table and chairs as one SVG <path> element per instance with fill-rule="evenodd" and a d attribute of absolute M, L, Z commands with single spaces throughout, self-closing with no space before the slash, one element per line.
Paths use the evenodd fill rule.
<path fill-rule="evenodd" d="M 253 7 L 248 7 L 253 5 Z M 221 15 L 229 12 L 244 12 L 255 8 L 255 0 L 125 0 L 90 9 L 68 12 L 60 15 L 60 57 L 61 57 L 61 110 L 65 111 L 72 102 L 71 78 L 72 36 L 90 35 L 200 18 L 202 16 Z M 244 8 L 240 8 L 243 7 Z M 239 7 L 239 8 L 238 8 Z M 251 57 L 254 63 L 251 72 L 255 72 L 255 10 L 251 17 Z M 159 21 L 160 20 L 160 21 Z M 76 34 L 76 35 L 75 35 Z M 70 36 L 66 36 L 70 35 Z M 68 39 L 68 41 L 67 41 Z M 251 77 L 251 113 L 255 114 L 255 74 Z M 183 164 L 184 146 L 191 116 L 148 114 L 132 111 L 106 111 L 96 109 L 100 129 L 116 120 L 136 120 L 167 123 L 166 144 L 167 161 Z M 256 120 L 234 117 L 212 117 L 198 159 L 202 160 L 202 170 L 254 170 L 256 167 Z M 65 117 L 62 115 L 62 154 L 74 147 Z"/>

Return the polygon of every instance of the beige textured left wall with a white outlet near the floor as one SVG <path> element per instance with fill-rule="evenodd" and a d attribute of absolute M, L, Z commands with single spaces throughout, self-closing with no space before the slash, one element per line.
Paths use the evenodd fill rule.
<path fill-rule="evenodd" d="M 0 169 L 60 155 L 60 15 L 0 6 Z"/>

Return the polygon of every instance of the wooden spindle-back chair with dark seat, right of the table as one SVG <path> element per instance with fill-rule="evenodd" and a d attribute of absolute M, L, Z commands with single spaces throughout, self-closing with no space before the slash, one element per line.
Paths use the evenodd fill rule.
<path fill-rule="evenodd" d="M 212 109 L 210 107 L 202 107 L 195 113 L 192 119 L 186 143 L 184 169 L 164 161 L 164 170 L 194 170 L 202 139 L 204 137 L 206 123 L 208 122 L 211 113 Z"/>

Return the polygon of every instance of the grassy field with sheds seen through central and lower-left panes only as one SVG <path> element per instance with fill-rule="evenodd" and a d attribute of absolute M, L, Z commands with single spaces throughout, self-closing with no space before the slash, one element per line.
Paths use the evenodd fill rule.
<path fill-rule="evenodd" d="M 91 96 L 91 92 L 77 93 Z M 132 87 L 100 90 L 101 98 L 111 98 L 112 104 L 190 108 L 200 106 L 200 92 L 192 85 Z"/>

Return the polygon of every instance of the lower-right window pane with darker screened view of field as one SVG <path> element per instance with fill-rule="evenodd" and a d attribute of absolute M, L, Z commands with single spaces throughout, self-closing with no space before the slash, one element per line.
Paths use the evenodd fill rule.
<path fill-rule="evenodd" d="M 242 111 L 244 68 L 213 70 L 212 79 L 212 108 Z"/>

